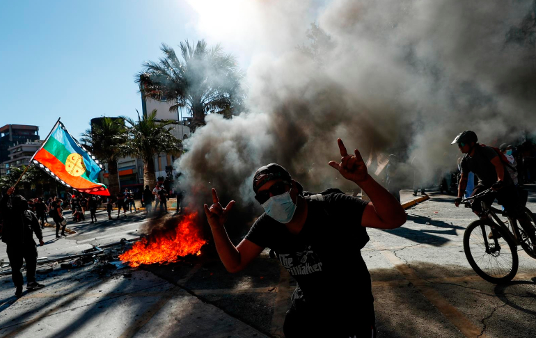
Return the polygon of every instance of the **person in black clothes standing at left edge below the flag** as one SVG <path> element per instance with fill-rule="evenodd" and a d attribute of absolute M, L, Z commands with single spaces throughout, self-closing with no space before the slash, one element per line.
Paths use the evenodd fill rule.
<path fill-rule="evenodd" d="M 7 244 L 7 253 L 11 265 L 11 277 L 15 284 L 15 296 L 22 295 L 23 278 L 20 269 L 22 259 L 26 261 L 26 289 L 35 290 L 45 287 L 36 282 L 37 248 L 33 241 L 36 234 L 39 245 L 43 246 L 41 227 L 36 214 L 28 210 L 28 202 L 21 195 L 13 195 L 14 187 L 0 201 L 3 215 L 2 241 Z"/>

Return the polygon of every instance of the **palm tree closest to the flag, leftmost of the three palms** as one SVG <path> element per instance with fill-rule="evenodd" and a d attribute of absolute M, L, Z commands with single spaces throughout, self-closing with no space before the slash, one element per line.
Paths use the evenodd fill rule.
<path fill-rule="evenodd" d="M 100 124 L 93 124 L 81 134 L 84 147 L 87 147 L 97 159 L 108 163 L 108 190 L 111 196 L 119 192 L 117 161 L 121 157 L 121 145 L 127 139 L 126 133 L 123 119 L 102 118 Z"/>

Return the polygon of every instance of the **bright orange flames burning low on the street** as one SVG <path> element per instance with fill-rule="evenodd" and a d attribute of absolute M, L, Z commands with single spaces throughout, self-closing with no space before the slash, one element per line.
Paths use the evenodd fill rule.
<path fill-rule="evenodd" d="M 186 255 L 200 255 L 200 248 L 207 243 L 196 226 L 197 213 L 184 216 L 178 226 L 169 232 L 159 233 L 148 241 L 134 243 L 132 249 L 119 256 L 135 268 L 141 264 L 167 264 Z"/>

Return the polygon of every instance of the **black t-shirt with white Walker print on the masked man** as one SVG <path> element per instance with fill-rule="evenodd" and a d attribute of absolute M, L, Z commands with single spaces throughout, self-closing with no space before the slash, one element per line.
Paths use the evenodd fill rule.
<path fill-rule="evenodd" d="M 370 274 L 360 251 L 369 241 L 361 226 L 366 204 L 340 193 L 308 201 L 306 223 L 297 235 L 267 214 L 255 221 L 245 238 L 274 250 L 297 280 L 295 309 L 317 314 L 329 325 L 374 323 Z"/>

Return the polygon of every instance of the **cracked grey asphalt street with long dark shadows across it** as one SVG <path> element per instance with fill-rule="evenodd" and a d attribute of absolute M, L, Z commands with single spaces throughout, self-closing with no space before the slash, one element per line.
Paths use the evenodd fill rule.
<path fill-rule="evenodd" d="M 528 188 L 527 206 L 536 211 L 536 187 Z M 402 193 L 402 202 L 412 198 Z M 371 240 L 361 252 L 372 277 L 378 337 L 533 337 L 536 260 L 520 250 L 510 284 L 482 280 L 462 245 L 475 216 L 453 200 L 431 193 L 407 210 L 399 229 L 368 230 Z M 77 233 L 58 241 L 52 228 L 45 230 L 39 257 L 79 253 L 143 230 L 140 213 L 107 221 L 101 211 L 99 217 L 96 224 L 69 225 Z M 0 250 L 5 257 L 3 243 Z M 97 270 L 54 267 L 38 275 L 47 287 L 24 291 L 18 300 L 10 277 L 0 277 L 0 337 L 282 337 L 295 287 L 267 250 L 236 274 L 210 249 L 166 266 Z M 339 292 L 336 279 L 326 287 Z"/>

